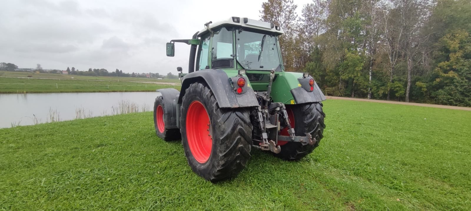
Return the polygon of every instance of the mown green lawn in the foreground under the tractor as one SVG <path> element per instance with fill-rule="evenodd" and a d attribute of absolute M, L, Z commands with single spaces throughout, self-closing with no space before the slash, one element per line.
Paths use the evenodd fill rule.
<path fill-rule="evenodd" d="M 193 173 L 152 113 L 0 130 L 0 210 L 471 210 L 471 112 L 325 102 L 299 162 L 252 151 L 232 181 Z"/>

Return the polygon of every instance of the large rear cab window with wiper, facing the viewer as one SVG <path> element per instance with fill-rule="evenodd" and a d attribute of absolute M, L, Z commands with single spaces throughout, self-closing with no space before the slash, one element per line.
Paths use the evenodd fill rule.
<path fill-rule="evenodd" d="M 275 36 L 239 29 L 235 42 L 237 61 L 245 69 L 281 71 Z"/>

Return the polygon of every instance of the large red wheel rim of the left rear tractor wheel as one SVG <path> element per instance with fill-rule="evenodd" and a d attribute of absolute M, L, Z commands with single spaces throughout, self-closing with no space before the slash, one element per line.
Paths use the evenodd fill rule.
<path fill-rule="evenodd" d="M 211 122 L 204 105 L 193 101 L 187 112 L 187 141 L 191 154 L 200 163 L 209 159 L 212 148 Z"/>

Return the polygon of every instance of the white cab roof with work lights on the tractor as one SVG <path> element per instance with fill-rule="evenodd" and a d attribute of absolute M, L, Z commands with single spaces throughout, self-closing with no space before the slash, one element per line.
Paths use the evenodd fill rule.
<path fill-rule="evenodd" d="M 240 17 L 230 17 L 226 20 L 222 20 L 216 23 L 210 23 L 209 28 L 215 29 L 222 25 L 235 25 L 235 26 L 243 26 L 246 28 L 252 28 L 257 30 L 264 30 L 264 31 L 271 31 L 276 34 L 284 34 L 283 29 L 273 23 L 267 23 L 263 21 L 257 21 L 249 18 L 240 18 Z M 201 37 L 203 34 L 206 34 L 208 30 L 204 28 L 198 32 L 198 37 Z"/>

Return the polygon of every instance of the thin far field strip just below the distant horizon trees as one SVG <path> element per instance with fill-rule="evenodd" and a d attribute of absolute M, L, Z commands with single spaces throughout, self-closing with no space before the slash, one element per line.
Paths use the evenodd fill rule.
<path fill-rule="evenodd" d="M 179 79 L 156 79 L 156 78 L 137 78 L 137 77 L 113 77 L 113 76 L 87 76 L 87 75 L 63 75 L 52 73 L 29 73 L 29 72 L 10 72 L 0 71 L 0 76 L 8 77 L 27 77 L 32 75 L 32 78 L 57 78 L 57 79 L 82 79 L 82 80 L 106 80 L 106 81 L 138 81 L 138 82 L 168 82 L 179 83 Z"/>

